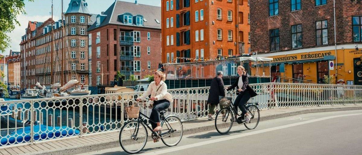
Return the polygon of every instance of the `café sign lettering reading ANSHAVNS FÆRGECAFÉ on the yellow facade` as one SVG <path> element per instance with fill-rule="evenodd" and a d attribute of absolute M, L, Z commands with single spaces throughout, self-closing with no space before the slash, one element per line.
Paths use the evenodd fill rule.
<path fill-rule="evenodd" d="M 332 53 L 326 52 L 326 53 L 291 54 L 286 56 L 276 56 L 273 58 L 273 62 L 319 59 L 319 58 L 324 58 L 324 56 L 326 55 L 332 55 Z"/>

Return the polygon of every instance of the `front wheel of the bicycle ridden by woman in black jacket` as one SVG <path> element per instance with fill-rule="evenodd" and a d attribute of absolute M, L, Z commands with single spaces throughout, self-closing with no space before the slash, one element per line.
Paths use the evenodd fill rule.
<path fill-rule="evenodd" d="M 234 122 L 233 113 L 229 108 L 221 109 L 215 117 L 215 128 L 220 134 L 226 134 L 230 131 Z"/>

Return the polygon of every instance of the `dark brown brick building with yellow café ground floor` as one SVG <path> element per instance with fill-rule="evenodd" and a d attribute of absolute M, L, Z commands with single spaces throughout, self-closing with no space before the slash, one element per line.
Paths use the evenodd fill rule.
<path fill-rule="evenodd" d="M 362 6 L 349 0 L 335 6 L 334 20 L 333 0 L 251 1 L 251 51 L 274 59 L 272 76 L 324 83 L 330 75 L 361 85 Z"/>

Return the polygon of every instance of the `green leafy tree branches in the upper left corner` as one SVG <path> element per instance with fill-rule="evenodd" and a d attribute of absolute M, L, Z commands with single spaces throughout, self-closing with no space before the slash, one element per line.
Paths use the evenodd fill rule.
<path fill-rule="evenodd" d="M 34 1 L 34 0 L 28 0 Z M 1 0 L 0 3 L 0 51 L 5 51 L 10 47 L 11 39 L 6 33 L 10 33 L 15 29 L 15 25 L 19 25 L 17 16 L 25 12 L 24 0 Z"/>

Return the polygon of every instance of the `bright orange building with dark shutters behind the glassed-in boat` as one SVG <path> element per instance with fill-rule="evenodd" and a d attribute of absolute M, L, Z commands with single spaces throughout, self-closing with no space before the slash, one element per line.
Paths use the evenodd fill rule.
<path fill-rule="evenodd" d="M 247 0 L 161 0 L 161 5 L 163 63 L 201 62 L 250 51 Z M 184 66 L 168 74 L 212 78 L 213 70 L 212 66 Z M 230 69 L 226 75 L 236 72 Z"/>

